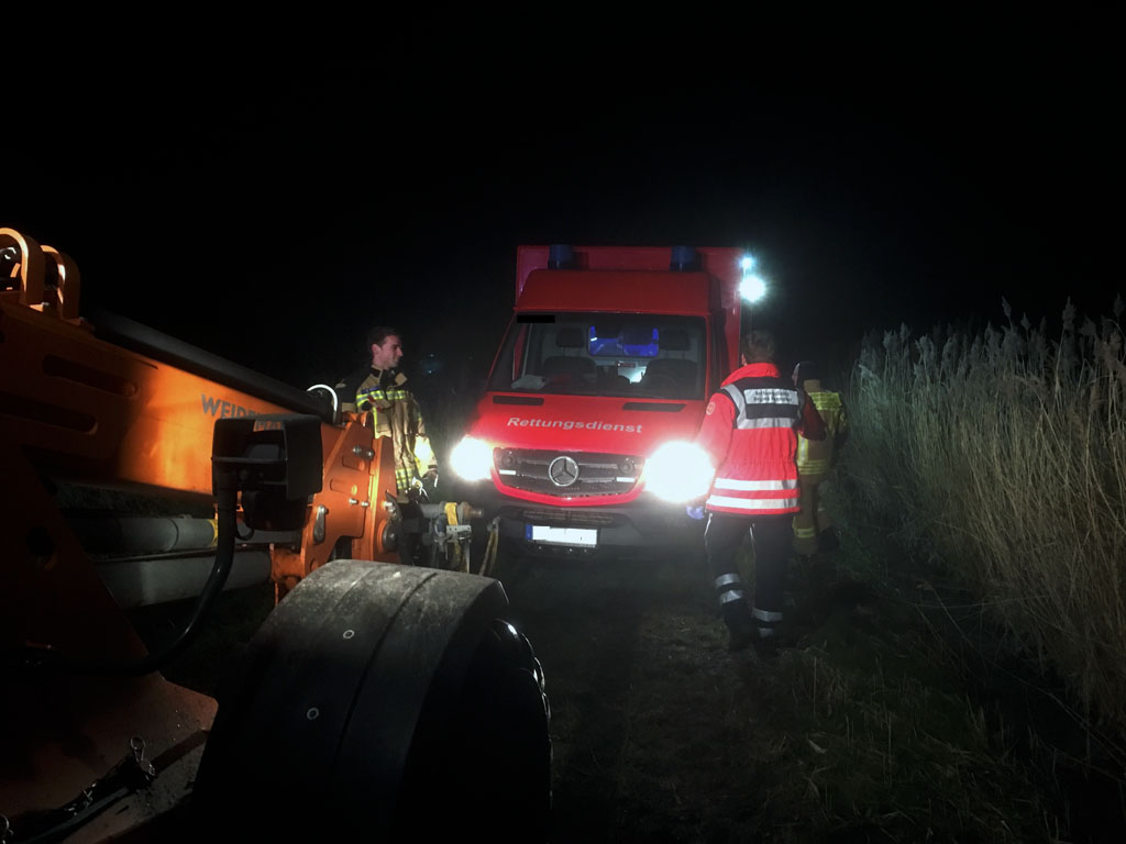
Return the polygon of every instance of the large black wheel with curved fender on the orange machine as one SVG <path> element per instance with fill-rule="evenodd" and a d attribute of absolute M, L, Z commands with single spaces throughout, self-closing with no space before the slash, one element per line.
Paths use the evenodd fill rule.
<path fill-rule="evenodd" d="M 507 609 L 492 578 L 319 568 L 220 690 L 199 821 L 261 839 L 546 841 L 547 698 Z"/>

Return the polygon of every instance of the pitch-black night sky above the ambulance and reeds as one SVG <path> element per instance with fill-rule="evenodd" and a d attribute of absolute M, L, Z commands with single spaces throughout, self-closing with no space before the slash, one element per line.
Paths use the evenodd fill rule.
<path fill-rule="evenodd" d="M 1002 296 L 1033 322 L 1067 296 L 1110 314 L 1109 18 L 743 26 L 432 15 L 367 59 L 23 62 L 10 88 L 38 99 L 9 99 L 0 225 L 78 261 L 83 313 L 302 387 L 377 323 L 408 368 L 483 376 L 519 243 L 744 246 L 789 361 L 995 323 Z"/>

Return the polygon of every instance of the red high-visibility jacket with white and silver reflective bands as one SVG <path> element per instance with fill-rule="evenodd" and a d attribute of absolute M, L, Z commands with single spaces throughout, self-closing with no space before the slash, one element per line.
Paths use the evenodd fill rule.
<path fill-rule="evenodd" d="M 797 433 L 824 437 L 824 425 L 802 390 L 772 363 L 732 372 L 708 402 L 696 437 L 716 469 L 707 509 L 765 515 L 799 510 Z"/>

